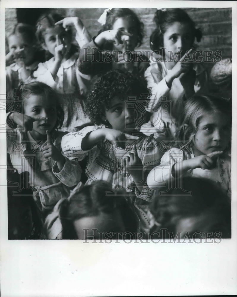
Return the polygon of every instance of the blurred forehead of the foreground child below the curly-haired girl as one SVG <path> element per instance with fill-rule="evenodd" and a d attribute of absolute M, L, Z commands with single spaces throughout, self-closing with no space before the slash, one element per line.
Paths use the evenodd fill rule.
<path fill-rule="evenodd" d="M 125 232 L 124 223 L 116 213 L 100 213 L 97 216 L 83 217 L 75 220 L 73 225 L 78 239 L 105 238 L 106 232 Z M 99 232 L 102 232 L 101 235 Z"/>

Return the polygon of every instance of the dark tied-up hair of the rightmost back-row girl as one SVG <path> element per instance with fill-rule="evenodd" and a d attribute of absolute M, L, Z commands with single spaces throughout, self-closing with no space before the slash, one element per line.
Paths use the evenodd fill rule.
<path fill-rule="evenodd" d="M 200 28 L 195 27 L 195 23 L 189 17 L 187 12 L 181 8 L 173 8 L 166 10 L 157 10 L 154 16 L 154 22 L 156 29 L 151 33 L 150 36 L 150 47 L 151 50 L 158 50 L 164 46 L 164 33 L 174 22 L 187 23 L 192 30 L 192 44 L 195 41 L 200 42 L 202 38 L 202 31 Z"/>

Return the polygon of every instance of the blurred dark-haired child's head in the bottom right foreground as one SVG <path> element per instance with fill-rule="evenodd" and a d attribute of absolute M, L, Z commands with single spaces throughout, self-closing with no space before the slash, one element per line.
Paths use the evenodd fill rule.
<path fill-rule="evenodd" d="M 195 232 L 220 232 L 222 238 L 231 237 L 230 201 L 209 179 L 183 178 L 182 187 L 169 189 L 165 195 L 157 193 L 150 209 L 161 228 L 170 232 L 187 231 L 191 238 Z"/>

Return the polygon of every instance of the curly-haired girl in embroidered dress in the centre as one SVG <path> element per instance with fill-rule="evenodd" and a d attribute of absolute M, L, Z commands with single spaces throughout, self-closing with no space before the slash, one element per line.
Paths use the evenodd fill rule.
<path fill-rule="evenodd" d="M 134 203 L 144 204 L 139 209 L 147 219 L 141 208 L 146 211 L 153 191 L 146 186 L 146 175 L 159 164 L 161 154 L 153 135 L 139 132 L 141 122 L 146 121 L 146 101 L 140 100 L 141 94 L 148 94 L 145 82 L 129 72 L 102 75 L 86 101 L 86 112 L 96 126 L 65 135 L 62 148 L 70 159 L 88 156 L 86 184 L 104 180 L 133 191 Z M 132 149 L 125 149 L 126 144 Z"/>

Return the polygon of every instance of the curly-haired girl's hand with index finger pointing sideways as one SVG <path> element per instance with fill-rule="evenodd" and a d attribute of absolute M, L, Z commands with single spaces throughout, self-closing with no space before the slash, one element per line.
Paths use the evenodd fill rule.
<path fill-rule="evenodd" d="M 103 135 L 106 140 L 112 141 L 122 149 L 125 149 L 127 140 L 129 139 L 139 140 L 139 137 L 137 136 L 129 135 L 127 133 L 123 133 L 121 131 L 108 129 L 108 128 L 103 129 Z"/>

